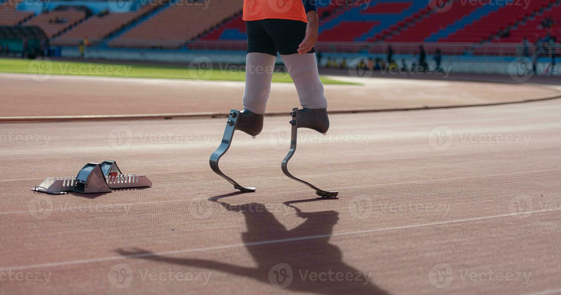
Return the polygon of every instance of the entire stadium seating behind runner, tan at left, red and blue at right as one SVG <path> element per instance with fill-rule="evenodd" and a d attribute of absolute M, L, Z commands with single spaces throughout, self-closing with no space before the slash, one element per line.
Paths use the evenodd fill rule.
<path fill-rule="evenodd" d="M 436 5 L 442 1 L 444 6 Z M 561 0 L 319 3 L 318 39 L 335 49 L 350 42 L 519 43 L 524 37 L 535 42 L 546 34 L 561 38 Z M 160 4 L 88 18 L 79 10 L 54 10 L 33 16 L 32 12 L 16 11 L 15 4 L 0 5 L 0 25 L 38 25 L 52 38 L 53 45 L 75 46 L 88 37 L 93 45 L 104 41 L 110 47 L 177 49 L 188 43 L 189 48 L 206 48 L 209 41 L 219 40 L 234 44 L 229 48 L 237 48 L 247 39 L 243 0 L 163 0 Z M 541 26 L 546 18 L 555 22 L 553 28 Z"/>

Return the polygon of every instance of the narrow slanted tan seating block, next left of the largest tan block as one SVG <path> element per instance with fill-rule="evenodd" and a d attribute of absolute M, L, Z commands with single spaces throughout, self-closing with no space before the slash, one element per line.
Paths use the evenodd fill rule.
<path fill-rule="evenodd" d="M 88 37 L 91 45 L 95 45 L 100 39 L 130 24 L 139 17 L 146 15 L 158 6 L 147 4 L 137 11 L 131 12 L 108 12 L 105 15 L 94 15 L 68 30 L 51 43 L 53 45 L 78 45 L 80 40 Z"/>

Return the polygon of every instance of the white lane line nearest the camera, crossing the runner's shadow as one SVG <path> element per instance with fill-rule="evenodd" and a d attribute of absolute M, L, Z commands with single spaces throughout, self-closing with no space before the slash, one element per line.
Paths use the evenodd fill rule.
<path fill-rule="evenodd" d="M 11 266 L 11 267 L 8 267 L 8 268 L 0 268 L 0 271 L 30 269 L 30 268 L 52 268 L 52 267 L 57 267 L 57 266 L 87 264 L 87 263 L 93 263 L 93 262 L 104 262 L 104 261 L 111 261 L 111 260 L 137 258 L 137 257 L 175 255 L 175 254 L 182 254 L 182 253 L 189 253 L 189 252 L 223 250 L 223 249 L 228 249 L 228 248 L 251 247 L 251 246 L 268 245 L 268 244 L 274 244 L 274 243 L 306 241 L 306 240 L 318 239 L 318 238 L 330 238 L 330 237 L 351 236 L 351 235 L 356 235 L 356 234 L 365 234 L 365 233 L 374 233 L 374 232 L 397 231 L 399 229 L 431 227 L 433 225 L 444 225 L 444 224 L 452 224 L 452 223 L 472 222 L 472 221 L 477 221 L 477 220 L 502 218 L 502 217 L 514 216 L 514 215 L 535 214 L 535 213 L 543 213 L 543 212 L 559 211 L 559 210 L 561 210 L 561 208 L 551 208 L 551 209 L 544 209 L 544 210 L 526 211 L 526 212 L 520 212 L 520 213 L 509 213 L 509 214 L 482 216 L 482 217 L 465 218 L 465 219 L 457 219 L 457 220 L 448 220 L 448 221 L 444 221 L 444 222 L 431 222 L 431 223 L 422 223 L 422 224 L 402 225 L 401 227 L 375 228 L 375 229 L 368 229 L 366 231 L 321 234 L 321 235 L 318 235 L 318 236 L 306 236 L 306 237 L 288 238 L 288 239 L 273 239 L 273 240 L 269 240 L 269 241 L 252 242 L 252 243 L 240 243 L 240 244 L 222 245 L 222 246 L 214 246 L 214 247 L 192 248 L 192 249 L 164 251 L 164 252 L 156 252 L 156 253 L 141 253 L 141 254 L 124 255 L 124 256 L 109 256 L 109 257 L 100 257 L 100 258 L 94 258 L 94 259 L 68 260 L 68 261 L 51 262 L 51 263 L 44 263 L 44 264 L 19 265 L 19 266 Z"/>

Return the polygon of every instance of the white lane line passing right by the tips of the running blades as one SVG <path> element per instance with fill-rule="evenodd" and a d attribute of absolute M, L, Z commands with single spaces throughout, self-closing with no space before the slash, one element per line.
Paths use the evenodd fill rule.
<path fill-rule="evenodd" d="M 469 176 L 469 177 L 457 177 L 457 178 L 444 178 L 444 179 L 433 179 L 433 180 L 422 180 L 422 181 L 411 181 L 411 182 L 393 182 L 393 183 L 381 183 L 379 185 L 370 185 L 370 186 L 350 186 L 350 187 L 335 187 L 334 189 L 341 190 L 346 188 L 363 188 L 363 187 L 380 187 L 380 186 L 394 186 L 394 185 L 408 185 L 413 183 L 425 183 L 425 182 L 437 182 L 437 181 L 450 181 L 450 180 L 458 180 L 458 179 L 473 179 L 473 178 L 486 178 L 486 177 L 496 177 L 496 176 L 508 176 L 508 175 L 516 175 L 516 174 L 529 174 L 529 173 L 539 173 L 539 172 L 550 172 L 550 171 L 557 171 L 561 170 L 558 169 L 548 169 L 548 170 L 535 170 L 535 171 L 526 171 L 526 172 L 513 172 L 513 173 L 503 173 L 503 174 L 490 174 L 484 176 Z M 301 191 L 286 191 L 286 192 L 269 192 L 269 193 L 260 193 L 259 196 L 267 196 L 267 195 L 280 195 L 284 193 L 298 193 L 298 192 L 310 192 L 314 190 L 301 190 Z M 45 195 L 47 196 L 47 195 Z M 43 210 L 27 210 L 27 211 L 8 211 L 8 212 L 0 212 L 0 215 L 7 215 L 7 214 L 22 214 L 22 213 L 32 213 L 32 212 L 44 212 L 45 210 L 52 210 L 52 211 L 72 211 L 72 210 L 89 210 L 95 208 L 107 208 L 107 207 L 117 207 L 117 206 L 135 206 L 135 205 L 153 205 L 153 204 L 165 204 L 165 203 L 172 203 L 172 202 L 188 202 L 188 201 L 201 201 L 207 200 L 209 198 L 203 199 L 187 199 L 187 200 L 173 200 L 173 201 L 154 201 L 154 202 L 141 202 L 141 203 L 127 203 L 127 204 L 111 204 L 111 205 L 99 205 L 99 206 L 89 206 L 89 207 L 80 207 L 80 208 L 53 208 L 53 209 L 43 209 Z M 213 199 L 213 197 L 210 197 Z"/>

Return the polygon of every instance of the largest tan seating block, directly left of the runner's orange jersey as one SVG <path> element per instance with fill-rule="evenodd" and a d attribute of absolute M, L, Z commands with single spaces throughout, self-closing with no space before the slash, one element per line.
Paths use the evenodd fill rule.
<path fill-rule="evenodd" d="M 110 46 L 178 48 L 187 40 L 203 34 L 239 13 L 243 0 L 175 2 L 150 19 L 132 27 L 113 40 Z M 208 5 L 208 7 L 206 7 Z"/>

